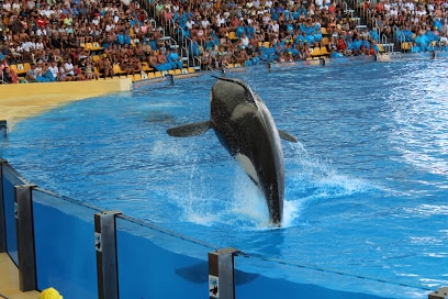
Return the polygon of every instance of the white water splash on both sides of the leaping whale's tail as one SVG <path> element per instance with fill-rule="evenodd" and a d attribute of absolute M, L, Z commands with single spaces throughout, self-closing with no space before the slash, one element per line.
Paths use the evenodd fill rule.
<path fill-rule="evenodd" d="M 183 155 L 179 158 L 190 164 L 188 191 L 186 198 L 171 196 L 182 210 L 182 220 L 238 231 L 272 229 L 264 193 L 233 159 L 221 165 L 205 165 L 193 157 L 192 148 L 186 151 L 190 153 L 186 154 L 188 158 Z M 301 143 L 287 151 L 292 153 L 285 160 L 283 229 L 302 225 L 301 215 L 313 202 L 337 200 L 373 188 L 367 180 L 338 174 L 331 160 L 307 153 Z"/>

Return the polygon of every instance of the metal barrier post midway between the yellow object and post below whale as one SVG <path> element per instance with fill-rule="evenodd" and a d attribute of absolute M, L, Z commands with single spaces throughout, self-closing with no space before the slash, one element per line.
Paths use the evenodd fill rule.
<path fill-rule="evenodd" d="M 97 250 L 98 298 L 119 298 L 119 270 L 116 259 L 117 211 L 94 214 L 94 247 Z"/>

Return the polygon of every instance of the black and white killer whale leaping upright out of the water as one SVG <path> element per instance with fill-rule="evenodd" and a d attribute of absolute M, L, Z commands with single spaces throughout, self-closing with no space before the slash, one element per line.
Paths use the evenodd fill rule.
<path fill-rule="evenodd" d="M 284 159 L 280 139 L 298 142 L 278 130 L 273 119 L 250 87 L 243 80 L 215 77 L 211 90 L 210 120 L 167 130 L 170 136 L 200 135 L 213 129 L 221 144 L 242 165 L 265 193 L 271 225 L 283 218 Z"/>

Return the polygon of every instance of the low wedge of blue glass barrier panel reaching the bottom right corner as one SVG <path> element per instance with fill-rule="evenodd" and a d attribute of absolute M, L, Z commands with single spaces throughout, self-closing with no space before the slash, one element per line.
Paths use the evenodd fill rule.
<path fill-rule="evenodd" d="M 426 292 L 416 286 L 281 259 L 235 256 L 235 298 L 426 298 Z"/>

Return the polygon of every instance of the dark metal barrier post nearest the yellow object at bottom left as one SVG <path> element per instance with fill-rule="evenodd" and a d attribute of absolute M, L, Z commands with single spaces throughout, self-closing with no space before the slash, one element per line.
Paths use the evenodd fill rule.
<path fill-rule="evenodd" d="M 32 189 L 35 185 L 14 186 L 14 213 L 18 235 L 19 286 L 21 291 L 35 290 L 36 259 Z"/>

